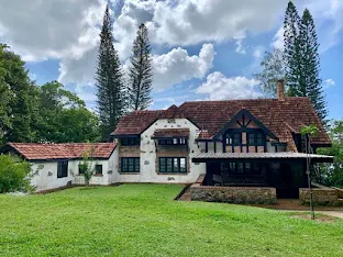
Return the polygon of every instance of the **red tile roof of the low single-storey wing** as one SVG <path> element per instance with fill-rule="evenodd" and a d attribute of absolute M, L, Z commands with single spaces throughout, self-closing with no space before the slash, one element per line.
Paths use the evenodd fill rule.
<path fill-rule="evenodd" d="M 85 150 L 93 147 L 93 158 L 110 158 L 115 149 L 113 143 L 70 143 L 70 144 L 33 144 L 33 143 L 9 143 L 9 147 L 22 155 L 27 160 L 47 159 L 77 159 L 82 158 Z"/>

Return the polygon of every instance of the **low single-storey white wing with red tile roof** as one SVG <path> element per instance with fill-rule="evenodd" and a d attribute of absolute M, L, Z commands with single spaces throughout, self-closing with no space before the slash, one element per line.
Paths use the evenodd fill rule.
<path fill-rule="evenodd" d="M 4 154 L 22 157 L 32 164 L 31 183 L 36 191 L 63 188 L 68 185 L 82 185 L 85 179 L 79 164 L 88 153 L 95 169 L 90 183 L 113 183 L 113 167 L 118 163 L 115 144 L 32 144 L 9 143 L 1 149 Z"/>

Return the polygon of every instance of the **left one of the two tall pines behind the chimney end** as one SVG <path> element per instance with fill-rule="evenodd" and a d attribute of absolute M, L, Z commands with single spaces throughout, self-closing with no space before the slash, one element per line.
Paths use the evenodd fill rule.
<path fill-rule="evenodd" d="M 297 8 L 289 1 L 284 23 L 284 63 L 286 66 L 286 81 L 289 89 L 288 94 L 290 97 L 300 97 L 303 94 L 303 89 L 299 87 L 301 79 L 299 23 L 300 18 Z"/>

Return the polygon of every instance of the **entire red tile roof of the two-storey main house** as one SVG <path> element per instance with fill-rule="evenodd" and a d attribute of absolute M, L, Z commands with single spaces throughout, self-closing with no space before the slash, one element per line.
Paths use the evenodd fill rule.
<path fill-rule="evenodd" d="M 291 132 L 300 133 L 303 125 L 319 128 L 314 144 L 331 144 L 321 121 L 308 98 L 253 99 L 229 101 L 185 102 L 179 108 L 172 105 L 165 111 L 135 111 L 123 116 L 112 135 L 141 134 L 158 119 L 186 118 L 196 124 L 199 138 L 211 139 L 241 110 L 247 110 L 263 123 L 280 142 L 288 143 Z"/>

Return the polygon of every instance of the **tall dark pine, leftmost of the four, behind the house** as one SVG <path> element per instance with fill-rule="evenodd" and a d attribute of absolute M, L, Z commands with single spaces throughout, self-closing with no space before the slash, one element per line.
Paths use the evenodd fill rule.
<path fill-rule="evenodd" d="M 100 33 L 96 81 L 101 137 L 102 141 L 107 141 L 124 112 L 123 72 L 113 44 L 109 5 L 104 11 Z"/>

